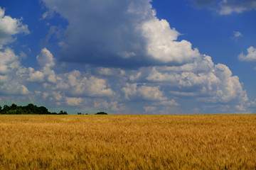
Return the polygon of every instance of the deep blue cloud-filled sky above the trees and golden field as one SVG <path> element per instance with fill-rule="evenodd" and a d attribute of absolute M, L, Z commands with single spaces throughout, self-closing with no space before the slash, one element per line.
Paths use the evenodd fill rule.
<path fill-rule="evenodd" d="M 256 0 L 4 0 L 0 105 L 256 112 Z"/>

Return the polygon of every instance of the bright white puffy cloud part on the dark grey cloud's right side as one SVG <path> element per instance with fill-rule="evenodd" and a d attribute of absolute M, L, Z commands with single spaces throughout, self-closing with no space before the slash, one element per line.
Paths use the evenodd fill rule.
<path fill-rule="evenodd" d="M 170 28 L 166 20 L 154 18 L 142 25 L 142 35 L 146 38 L 146 52 L 160 62 L 191 62 L 200 57 L 197 49 L 191 49 L 186 40 L 176 41 L 179 33 Z"/>

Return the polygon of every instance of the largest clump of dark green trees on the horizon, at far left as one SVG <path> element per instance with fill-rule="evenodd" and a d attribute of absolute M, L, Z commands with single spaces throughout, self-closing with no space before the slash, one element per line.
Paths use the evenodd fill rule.
<path fill-rule="evenodd" d="M 36 106 L 29 103 L 27 106 L 17 106 L 12 104 L 11 106 L 0 106 L 0 114 L 2 115 L 68 115 L 66 111 L 60 111 L 59 113 L 49 112 L 44 106 Z"/>

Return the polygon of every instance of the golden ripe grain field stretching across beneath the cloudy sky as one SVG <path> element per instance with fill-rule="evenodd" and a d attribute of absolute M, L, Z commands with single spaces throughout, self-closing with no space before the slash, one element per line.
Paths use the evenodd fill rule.
<path fill-rule="evenodd" d="M 256 115 L 0 115 L 0 169 L 256 169 Z"/>

